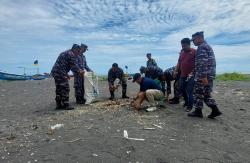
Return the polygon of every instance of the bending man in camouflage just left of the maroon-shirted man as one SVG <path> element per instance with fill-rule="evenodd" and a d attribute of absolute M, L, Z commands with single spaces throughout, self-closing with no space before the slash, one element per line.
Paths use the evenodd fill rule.
<path fill-rule="evenodd" d="M 169 100 L 170 104 L 179 103 L 178 87 L 179 87 L 179 74 L 175 74 L 176 66 L 170 67 L 163 72 L 162 79 L 167 83 L 167 98 L 171 94 L 171 82 L 174 81 L 174 97 Z"/>

